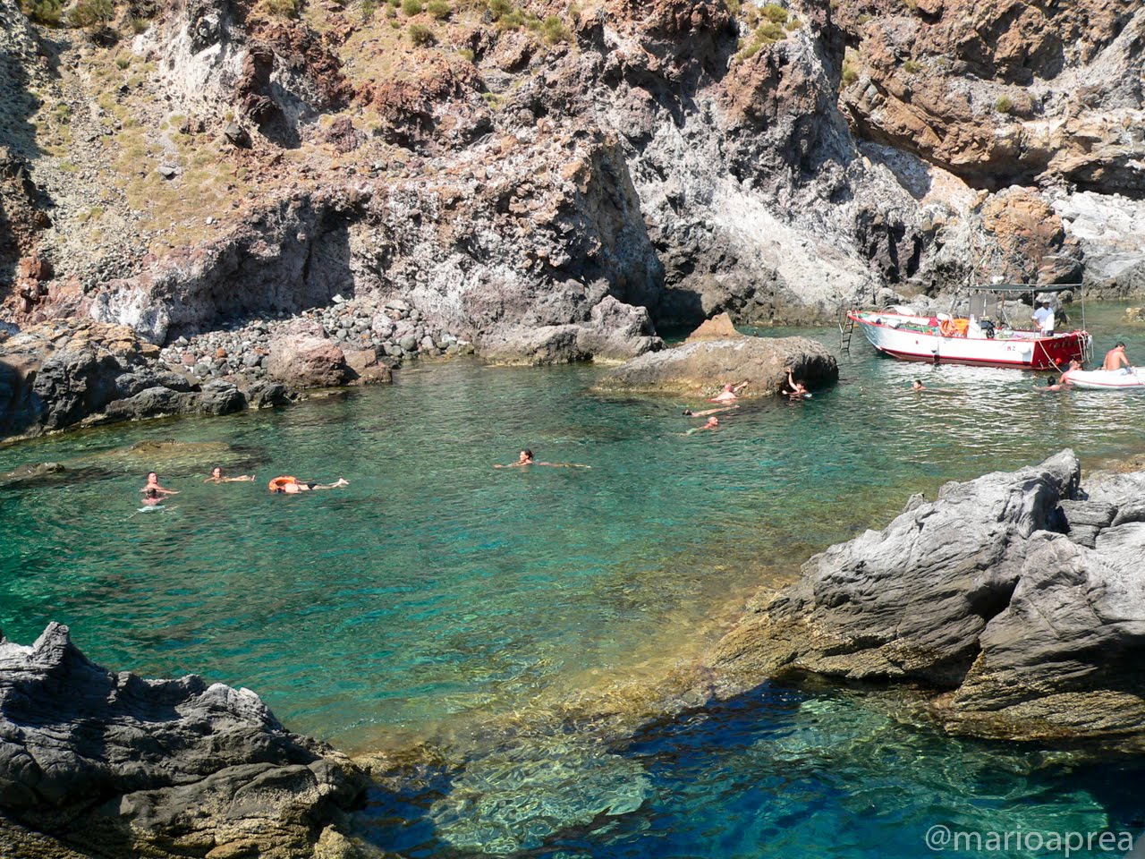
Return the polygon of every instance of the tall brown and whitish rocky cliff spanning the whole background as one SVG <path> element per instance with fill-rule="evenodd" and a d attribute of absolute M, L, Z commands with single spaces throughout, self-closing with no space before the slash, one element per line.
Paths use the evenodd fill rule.
<path fill-rule="evenodd" d="M 1129 0 L 0 0 L 0 21 L 19 323 L 163 342 L 341 293 L 480 348 L 592 328 L 608 295 L 647 337 L 994 274 L 1140 287 Z"/>

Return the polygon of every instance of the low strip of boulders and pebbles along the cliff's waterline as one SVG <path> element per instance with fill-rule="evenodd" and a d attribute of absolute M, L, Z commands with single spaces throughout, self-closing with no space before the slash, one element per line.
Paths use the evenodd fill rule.
<path fill-rule="evenodd" d="M 505 326 L 480 350 L 405 301 L 346 301 L 300 316 L 255 320 L 176 338 L 159 348 L 126 325 L 46 322 L 0 338 L 0 441 L 70 426 L 172 415 L 229 415 L 284 405 L 319 388 L 388 383 L 412 360 L 476 354 L 490 364 L 619 363 L 601 391 L 776 394 L 784 368 L 812 387 L 838 379 L 835 357 L 808 338 L 692 342 L 670 349 L 642 309 L 603 297 L 581 324 Z M 637 356 L 637 357 L 633 357 Z M 649 379 L 656 377 L 656 381 Z"/>

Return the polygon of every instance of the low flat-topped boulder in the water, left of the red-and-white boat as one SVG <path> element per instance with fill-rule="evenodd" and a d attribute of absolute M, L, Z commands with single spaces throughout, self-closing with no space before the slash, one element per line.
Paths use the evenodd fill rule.
<path fill-rule="evenodd" d="M 602 392 L 710 396 L 725 384 L 748 385 L 742 396 L 779 393 L 785 368 L 808 388 L 838 380 L 839 369 L 822 344 L 806 337 L 736 337 L 700 340 L 641 355 L 597 383 Z"/>

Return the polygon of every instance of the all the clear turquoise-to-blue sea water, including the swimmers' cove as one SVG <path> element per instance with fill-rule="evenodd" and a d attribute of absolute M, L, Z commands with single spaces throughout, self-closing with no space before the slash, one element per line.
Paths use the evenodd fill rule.
<path fill-rule="evenodd" d="M 1120 309 L 1090 308 L 1097 345 L 1123 336 L 1143 360 Z M 791 838 L 875 856 L 943 814 L 1132 822 L 1096 775 L 911 727 L 859 693 L 764 689 L 625 748 L 489 733 L 693 663 L 760 584 L 914 491 L 1067 446 L 1085 463 L 1140 449 L 1145 396 L 852 350 L 837 387 L 690 436 L 682 402 L 589 393 L 600 368 L 450 362 L 276 412 L 2 448 L 0 472 L 69 471 L 0 489 L 0 628 L 26 643 L 57 620 L 111 668 L 248 686 L 352 751 L 447 738 L 469 763 L 444 799 L 434 786 L 368 814 L 372 838 L 426 856 L 790 856 Z M 911 393 L 915 377 L 947 393 Z M 129 450 L 161 440 L 182 447 Z M 521 447 L 591 468 L 491 467 Z M 204 484 L 215 463 L 259 480 Z M 161 513 L 137 511 L 150 468 L 180 490 Z M 271 496 L 277 474 L 350 486 Z M 891 799 L 902 810 L 878 811 Z M 924 852 L 911 836 L 897 854 Z"/>

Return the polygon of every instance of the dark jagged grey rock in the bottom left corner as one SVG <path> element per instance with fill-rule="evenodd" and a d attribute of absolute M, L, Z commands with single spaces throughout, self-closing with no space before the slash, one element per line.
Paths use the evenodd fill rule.
<path fill-rule="evenodd" d="M 0 637 L 0 838 L 25 854 L 313 856 L 365 786 L 248 689 L 106 671 L 57 623 Z"/>

